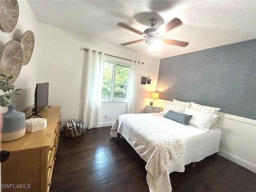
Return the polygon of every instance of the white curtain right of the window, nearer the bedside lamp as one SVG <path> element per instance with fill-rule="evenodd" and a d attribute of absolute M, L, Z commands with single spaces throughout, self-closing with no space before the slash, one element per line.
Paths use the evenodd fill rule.
<path fill-rule="evenodd" d="M 138 73 L 138 65 L 136 65 L 135 62 L 130 62 L 130 72 L 129 72 L 129 80 L 128 80 L 128 89 L 127 89 L 127 96 L 126 96 L 126 104 L 124 113 L 134 113 L 135 112 L 135 106 L 136 106 L 136 77 Z"/>

